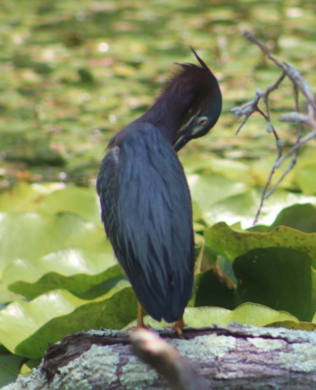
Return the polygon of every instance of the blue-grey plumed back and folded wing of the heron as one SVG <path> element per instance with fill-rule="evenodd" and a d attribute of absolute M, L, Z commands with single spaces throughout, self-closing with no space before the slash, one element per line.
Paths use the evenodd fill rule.
<path fill-rule="evenodd" d="M 182 166 L 154 126 L 138 123 L 121 138 L 116 170 L 111 185 L 118 233 L 106 231 L 145 310 L 175 321 L 191 297 L 194 270 L 192 206 Z M 104 217 L 105 224 L 111 220 Z"/>

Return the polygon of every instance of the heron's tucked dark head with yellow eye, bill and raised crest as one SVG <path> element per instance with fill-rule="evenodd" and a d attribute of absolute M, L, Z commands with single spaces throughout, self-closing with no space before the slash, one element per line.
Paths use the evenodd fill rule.
<path fill-rule="evenodd" d="M 185 115 L 183 125 L 176 137 L 174 149 L 179 151 L 190 140 L 204 136 L 210 131 L 222 111 L 222 93 L 216 77 L 208 69 L 205 62 L 191 48 L 202 68 L 192 64 L 181 64 L 181 67 L 196 67 L 199 70 L 200 88 L 196 102 Z"/>

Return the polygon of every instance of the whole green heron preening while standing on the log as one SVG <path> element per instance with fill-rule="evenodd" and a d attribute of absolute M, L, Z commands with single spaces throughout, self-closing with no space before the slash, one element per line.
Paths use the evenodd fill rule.
<path fill-rule="evenodd" d="M 153 106 L 116 134 L 102 161 L 97 190 L 102 221 L 139 306 L 155 320 L 184 326 L 192 295 L 194 234 L 189 188 L 176 151 L 205 135 L 222 110 L 215 76 L 179 64 Z"/>

